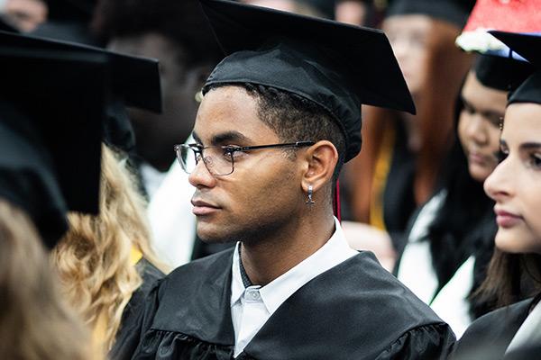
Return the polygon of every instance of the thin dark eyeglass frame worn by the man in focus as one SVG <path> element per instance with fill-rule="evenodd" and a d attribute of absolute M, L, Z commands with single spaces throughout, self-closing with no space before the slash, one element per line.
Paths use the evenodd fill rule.
<path fill-rule="evenodd" d="M 184 170 L 184 172 L 186 172 L 187 174 L 191 174 L 191 172 L 188 173 L 188 170 L 185 168 L 184 165 L 182 165 L 182 160 L 179 156 L 180 148 L 189 148 L 194 152 L 194 157 L 196 158 L 196 166 L 199 164 L 199 161 L 200 161 L 200 159 L 197 157 L 197 155 L 199 155 L 201 160 L 203 160 L 203 164 L 205 164 L 206 170 L 210 174 L 215 175 L 215 176 L 227 176 L 227 175 L 233 174 L 234 172 L 233 154 L 237 151 L 251 151 L 251 150 L 259 150 L 261 148 L 304 148 L 304 147 L 310 147 L 314 144 L 316 144 L 315 141 L 296 141 L 296 142 L 284 142 L 280 144 L 252 145 L 252 146 L 244 146 L 244 147 L 235 146 L 235 145 L 211 145 L 211 146 L 203 147 L 197 143 L 192 143 L 192 144 L 177 144 L 173 148 L 175 149 L 175 156 L 177 157 L 177 161 L 179 161 L 179 164 L 182 167 L 182 170 Z M 206 161 L 205 161 L 206 157 L 203 157 L 203 150 L 205 150 L 206 148 L 225 149 L 228 152 L 229 156 L 231 157 L 231 172 L 227 174 L 215 174 L 213 171 L 211 171 L 206 164 Z M 196 167 L 194 167 L 194 170 L 195 168 Z"/>

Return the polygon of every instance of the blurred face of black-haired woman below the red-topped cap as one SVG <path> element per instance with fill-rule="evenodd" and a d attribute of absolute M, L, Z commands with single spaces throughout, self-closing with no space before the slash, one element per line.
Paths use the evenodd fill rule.
<path fill-rule="evenodd" d="M 483 182 L 498 165 L 500 122 L 505 113 L 507 92 L 482 85 L 470 72 L 463 85 L 463 111 L 458 137 L 468 158 L 470 175 Z"/>

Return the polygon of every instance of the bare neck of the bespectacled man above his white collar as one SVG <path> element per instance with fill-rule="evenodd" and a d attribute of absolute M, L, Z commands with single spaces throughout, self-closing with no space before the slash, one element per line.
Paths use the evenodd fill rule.
<path fill-rule="evenodd" d="M 264 286 L 287 273 L 323 247 L 335 232 L 335 220 L 329 215 L 294 222 L 273 238 L 242 243 L 241 260 L 252 284 Z"/>

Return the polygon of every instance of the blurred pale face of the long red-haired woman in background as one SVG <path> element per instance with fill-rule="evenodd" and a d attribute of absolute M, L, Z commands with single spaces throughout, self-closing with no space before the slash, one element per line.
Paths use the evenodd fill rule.
<path fill-rule="evenodd" d="M 383 31 L 389 37 L 409 91 L 414 95 L 425 82 L 428 38 L 432 24 L 426 15 L 397 15 L 383 22 Z"/>

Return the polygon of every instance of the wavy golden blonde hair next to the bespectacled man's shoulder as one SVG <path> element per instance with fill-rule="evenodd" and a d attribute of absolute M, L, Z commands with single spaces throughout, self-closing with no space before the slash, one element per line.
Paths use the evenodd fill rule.
<path fill-rule="evenodd" d="M 87 324 L 95 327 L 105 317 L 106 349 L 113 346 L 124 308 L 142 284 L 131 259 L 133 247 L 160 265 L 135 184 L 125 161 L 104 145 L 99 214 L 70 213 L 70 229 L 52 254 L 63 293 Z"/>

